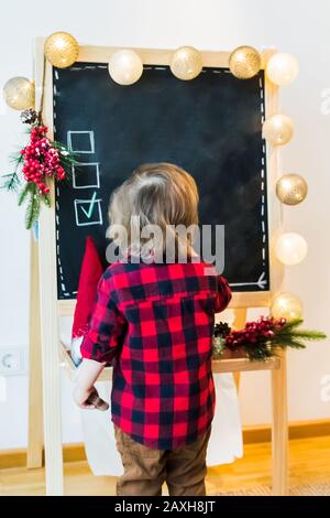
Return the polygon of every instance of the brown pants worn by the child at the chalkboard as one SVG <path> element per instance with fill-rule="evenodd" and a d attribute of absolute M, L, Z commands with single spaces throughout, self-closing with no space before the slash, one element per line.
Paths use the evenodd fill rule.
<path fill-rule="evenodd" d="M 177 450 L 153 450 L 114 425 L 117 449 L 124 474 L 117 484 L 119 496 L 161 496 L 166 481 L 172 496 L 205 496 L 206 453 L 211 430 Z"/>

